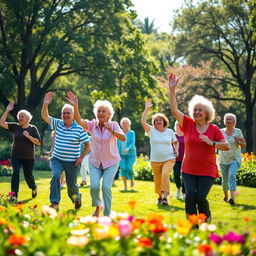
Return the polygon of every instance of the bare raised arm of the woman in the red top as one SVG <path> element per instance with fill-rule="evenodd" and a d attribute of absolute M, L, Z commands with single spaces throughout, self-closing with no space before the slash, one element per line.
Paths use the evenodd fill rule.
<path fill-rule="evenodd" d="M 176 100 L 176 86 L 179 79 L 176 78 L 175 74 L 169 75 L 169 103 L 171 112 L 174 118 L 178 121 L 179 125 L 182 126 L 184 114 L 178 109 L 178 104 Z"/>

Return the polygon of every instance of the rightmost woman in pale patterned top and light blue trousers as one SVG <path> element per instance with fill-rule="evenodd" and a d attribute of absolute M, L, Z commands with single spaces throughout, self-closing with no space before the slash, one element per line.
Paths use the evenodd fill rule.
<path fill-rule="evenodd" d="M 246 147 L 246 142 L 242 131 L 235 128 L 236 115 L 225 114 L 224 124 L 226 128 L 221 129 L 221 132 L 228 141 L 230 149 L 229 151 L 219 150 L 218 162 L 222 174 L 223 200 L 233 205 L 235 204 L 236 173 L 242 163 L 241 148 Z M 230 199 L 228 199 L 228 190 L 230 191 Z"/>

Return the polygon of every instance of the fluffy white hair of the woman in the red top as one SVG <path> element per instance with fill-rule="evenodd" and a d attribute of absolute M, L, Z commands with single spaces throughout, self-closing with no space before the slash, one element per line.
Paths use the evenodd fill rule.
<path fill-rule="evenodd" d="M 193 111 L 197 104 L 201 104 L 204 107 L 205 112 L 207 113 L 206 122 L 212 122 L 213 119 L 215 118 L 215 109 L 212 105 L 212 102 L 202 95 L 193 96 L 190 102 L 188 103 L 188 112 L 190 117 L 193 118 Z"/>

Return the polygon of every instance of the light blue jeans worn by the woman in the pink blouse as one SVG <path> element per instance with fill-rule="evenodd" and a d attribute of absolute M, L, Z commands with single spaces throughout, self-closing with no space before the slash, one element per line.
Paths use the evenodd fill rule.
<path fill-rule="evenodd" d="M 106 169 L 100 169 L 89 163 L 90 169 L 90 193 L 92 197 L 92 206 L 102 205 L 100 198 L 100 180 L 102 178 L 102 195 L 104 203 L 104 215 L 108 216 L 111 212 L 112 203 L 112 185 L 116 175 L 119 163 Z"/>

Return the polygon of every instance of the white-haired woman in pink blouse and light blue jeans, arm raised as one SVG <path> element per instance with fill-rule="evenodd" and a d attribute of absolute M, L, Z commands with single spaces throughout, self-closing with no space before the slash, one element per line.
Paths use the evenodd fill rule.
<path fill-rule="evenodd" d="M 109 101 L 97 100 L 93 109 L 96 120 L 88 121 L 80 117 L 77 96 L 72 92 L 68 92 L 67 96 L 68 101 L 74 106 L 75 120 L 91 134 L 90 193 L 92 206 L 96 207 L 93 216 L 99 216 L 103 209 L 104 215 L 108 216 L 112 203 L 111 187 L 120 161 L 117 139 L 125 141 L 125 134 L 117 122 L 111 121 L 114 110 Z M 101 178 L 104 208 L 100 198 Z"/>

